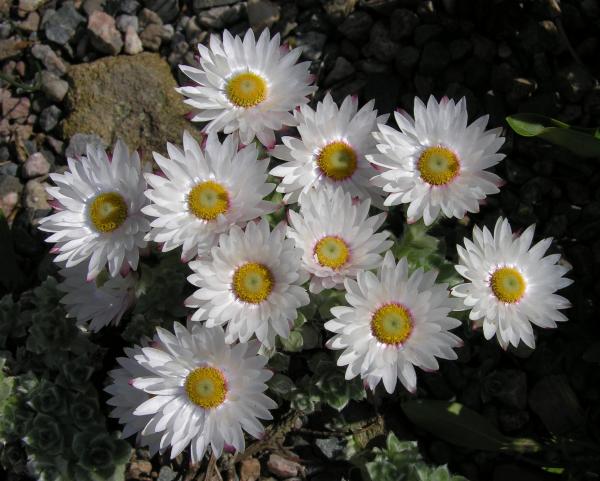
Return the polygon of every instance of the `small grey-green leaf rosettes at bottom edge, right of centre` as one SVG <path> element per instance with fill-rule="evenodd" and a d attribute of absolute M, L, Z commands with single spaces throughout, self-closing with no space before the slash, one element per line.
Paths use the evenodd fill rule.
<path fill-rule="evenodd" d="M 370 481 L 468 481 L 452 475 L 447 466 L 430 466 L 419 454 L 416 441 L 400 441 L 392 432 L 384 448 L 374 448 L 375 458 L 365 464 Z"/>

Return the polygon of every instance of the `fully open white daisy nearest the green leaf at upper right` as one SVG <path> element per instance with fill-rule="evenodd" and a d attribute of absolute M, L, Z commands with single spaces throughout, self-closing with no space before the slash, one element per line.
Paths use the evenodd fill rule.
<path fill-rule="evenodd" d="M 504 143 L 501 128 L 485 130 L 488 115 L 467 126 L 467 106 L 429 97 L 427 107 L 415 97 L 414 120 L 395 113 L 401 132 L 379 125 L 373 136 L 381 154 L 369 157 L 385 172 L 372 182 L 389 195 L 385 205 L 409 204 L 407 217 L 426 225 L 440 211 L 446 217 L 462 218 L 479 212 L 479 202 L 499 192 L 500 177 L 486 171 L 504 158 L 498 149 Z"/>

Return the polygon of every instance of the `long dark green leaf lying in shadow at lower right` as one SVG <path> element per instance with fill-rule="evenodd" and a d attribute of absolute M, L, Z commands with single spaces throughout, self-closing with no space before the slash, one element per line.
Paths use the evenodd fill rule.
<path fill-rule="evenodd" d="M 500 451 L 511 444 L 483 416 L 457 402 L 417 399 L 402 403 L 402 410 L 417 426 L 458 446 Z"/>

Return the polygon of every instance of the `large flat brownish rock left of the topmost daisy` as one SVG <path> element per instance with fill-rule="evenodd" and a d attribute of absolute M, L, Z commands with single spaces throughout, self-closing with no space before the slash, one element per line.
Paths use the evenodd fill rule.
<path fill-rule="evenodd" d="M 171 69 L 158 54 L 74 65 L 68 77 L 66 140 L 76 133 L 97 134 L 112 146 L 120 137 L 150 161 L 152 151 L 165 152 L 167 142 L 181 144 L 183 130 L 194 129 L 184 117 L 188 107 L 174 90 Z"/>

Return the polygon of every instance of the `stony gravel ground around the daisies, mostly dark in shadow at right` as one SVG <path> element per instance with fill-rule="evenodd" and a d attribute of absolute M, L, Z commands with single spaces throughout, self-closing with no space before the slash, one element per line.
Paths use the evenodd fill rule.
<path fill-rule="evenodd" d="M 186 81 L 177 66 L 194 63 L 195 45 L 223 28 L 269 27 L 301 46 L 317 98 L 328 90 L 338 100 L 355 94 L 390 112 L 411 111 L 415 95 L 466 96 L 471 116 L 487 113 L 492 126 L 506 126 L 514 112 L 600 125 L 598 0 L 0 0 L 0 18 L 0 209 L 12 229 L 18 290 L 50 268 L 36 229 L 50 212 L 48 174 L 63 171 L 66 156 L 83 153 L 90 141 L 109 146 L 122 137 L 150 159 L 167 141 L 179 142 L 184 128 L 196 128 L 173 90 Z M 565 291 L 571 321 L 543 333 L 533 353 L 506 354 L 472 334 L 459 363 L 419 382 L 430 397 L 454 395 L 506 434 L 575 433 L 598 442 L 600 170 L 596 161 L 510 132 L 503 151 L 502 192 L 464 225 L 442 223 L 437 234 L 453 246 L 472 222 L 499 214 L 516 227 L 536 223 L 573 266 L 575 284 Z M 394 409 L 391 401 L 382 406 Z M 546 479 L 529 466 L 552 463 L 451 446 L 413 432 L 400 412 L 395 422 L 421 441 L 429 460 L 471 481 Z M 327 447 L 308 449 L 312 441 L 290 441 L 309 460 L 302 462 L 306 473 L 272 454 L 261 458 L 261 479 L 334 479 L 322 468 L 311 471 L 311 462 L 333 456 Z M 130 479 L 175 477 L 175 466 L 153 464 L 143 451 L 137 456 Z M 251 458 L 240 476 L 255 480 L 260 471 Z"/>

